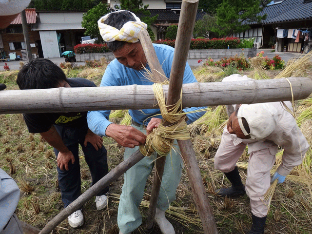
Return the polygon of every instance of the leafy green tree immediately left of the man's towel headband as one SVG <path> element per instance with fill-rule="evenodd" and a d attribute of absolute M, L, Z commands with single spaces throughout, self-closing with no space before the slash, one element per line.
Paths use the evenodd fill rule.
<path fill-rule="evenodd" d="M 90 35 L 91 38 L 98 38 L 100 42 L 104 42 L 98 30 L 98 20 L 109 12 L 106 4 L 99 3 L 87 13 L 83 13 L 81 25 L 86 29 L 84 35 Z"/>

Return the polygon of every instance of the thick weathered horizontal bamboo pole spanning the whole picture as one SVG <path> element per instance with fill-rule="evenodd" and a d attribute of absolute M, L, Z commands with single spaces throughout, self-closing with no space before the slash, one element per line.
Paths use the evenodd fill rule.
<path fill-rule="evenodd" d="M 183 84 L 182 105 L 185 108 L 292 100 L 292 92 L 297 100 L 312 93 L 311 78 L 288 79 L 292 85 L 284 78 Z M 163 89 L 168 94 L 168 85 Z M 151 85 L 3 90 L 0 100 L 0 114 L 158 107 Z"/>

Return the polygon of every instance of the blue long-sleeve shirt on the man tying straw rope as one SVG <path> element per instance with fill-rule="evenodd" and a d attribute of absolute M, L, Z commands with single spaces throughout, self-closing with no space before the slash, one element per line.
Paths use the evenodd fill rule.
<path fill-rule="evenodd" d="M 156 56 L 161 64 L 161 67 L 167 78 L 170 77 L 171 66 L 174 57 L 174 48 L 163 45 L 153 44 Z M 151 70 L 149 65 L 146 65 L 148 70 Z M 197 82 L 190 66 L 186 64 L 183 83 L 194 83 Z M 114 59 L 110 62 L 105 70 L 100 86 L 122 86 L 122 85 L 153 85 L 153 82 L 147 80 L 144 77 L 144 70 L 137 71 L 132 68 L 128 68 Z M 194 111 L 203 109 L 206 107 L 192 107 L 183 109 L 184 112 Z M 139 123 L 147 125 L 150 119 L 156 114 L 160 114 L 159 109 L 142 109 L 142 110 L 129 110 L 129 115 L 132 119 Z M 187 114 L 187 123 L 194 122 L 199 117 L 203 116 L 205 111 Z M 87 120 L 89 129 L 99 136 L 106 136 L 105 131 L 110 122 L 109 119 L 110 111 L 90 111 L 88 112 Z M 156 116 L 160 117 L 161 116 Z"/>

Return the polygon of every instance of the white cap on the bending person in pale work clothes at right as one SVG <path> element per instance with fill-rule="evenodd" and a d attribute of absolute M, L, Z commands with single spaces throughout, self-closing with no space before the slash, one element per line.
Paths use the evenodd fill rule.
<path fill-rule="evenodd" d="M 249 125 L 250 134 L 246 131 L 242 117 Z M 263 139 L 269 136 L 277 126 L 277 110 L 269 103 L 242 104 L 237 112 L 239 126 L 245 136 Z"/>

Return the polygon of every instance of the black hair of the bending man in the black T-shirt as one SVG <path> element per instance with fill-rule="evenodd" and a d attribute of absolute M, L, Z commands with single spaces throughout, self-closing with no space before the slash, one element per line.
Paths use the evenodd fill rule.
<path fill-rule="evenodd" d="M 49 59 L 34 59 L 26 63 L 16 79 L 20 89 L 57 88 L 62 81 L 68 82 L 64 72 Z"/>

